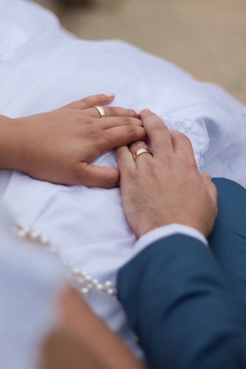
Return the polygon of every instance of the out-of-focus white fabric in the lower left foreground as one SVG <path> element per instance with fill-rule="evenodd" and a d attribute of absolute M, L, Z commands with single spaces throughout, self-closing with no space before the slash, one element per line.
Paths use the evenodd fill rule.
<path fill-rule="evenodd" d="M 0 368 L 38 368 L 43 338 L 58 322 L 64 283 L 50 254 L 26 245 L 0 216 Z"/>

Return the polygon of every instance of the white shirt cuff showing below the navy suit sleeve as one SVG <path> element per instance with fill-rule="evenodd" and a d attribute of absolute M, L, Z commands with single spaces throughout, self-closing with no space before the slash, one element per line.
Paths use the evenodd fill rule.
<path fill-rule="evenodd" d="M 205 246 L 208 246 L 208 241 L 206 238 L 199 232 L 197 229 L 189 227 L 184 224 L 169 224 L 163 227 L 159 227 L 150 231 L 140 237 L 134 245 L 134 251 L 136 254 L 142 251 L 145 247 L 149 246 L 155 241 L 160 240 L 164 237 L 173 236 L 175 234 L 183 234 L 185 236 L 196 238 L 198 241 L 201 241 Z"/>

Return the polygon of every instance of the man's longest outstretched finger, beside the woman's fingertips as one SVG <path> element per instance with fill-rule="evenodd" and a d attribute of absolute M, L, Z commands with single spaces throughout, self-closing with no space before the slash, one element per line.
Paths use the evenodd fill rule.
<path fill-rule="evenodd" d="M 140 118 L 142 119 L 154 156 L 163 157 L 163 155 L 173 152 L 170 133 L 162 120 L 148 109 L 140 113 Z"/>

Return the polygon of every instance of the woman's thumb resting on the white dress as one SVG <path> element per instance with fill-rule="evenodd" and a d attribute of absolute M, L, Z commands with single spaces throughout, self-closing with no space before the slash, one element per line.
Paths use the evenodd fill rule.
<path fill-rule="evenodd" d="M 113 188 L 120 181 L 118 169 L 99 167 L 80 163 L 76 173 L 76 182 L 88 187 Z"/>

